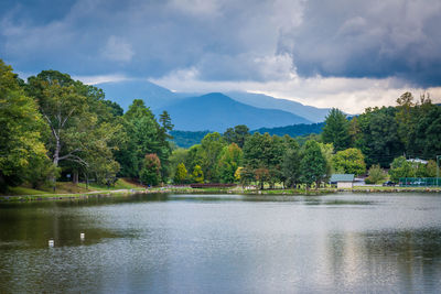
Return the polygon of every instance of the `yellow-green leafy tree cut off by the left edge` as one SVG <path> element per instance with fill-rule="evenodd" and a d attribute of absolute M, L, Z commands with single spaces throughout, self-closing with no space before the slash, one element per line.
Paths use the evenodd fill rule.
<path fill-rule="evenodd" d="M 0 190 L 52 172 L 35 102 L 20 88 L 12 68 L 0 59 Z"/>

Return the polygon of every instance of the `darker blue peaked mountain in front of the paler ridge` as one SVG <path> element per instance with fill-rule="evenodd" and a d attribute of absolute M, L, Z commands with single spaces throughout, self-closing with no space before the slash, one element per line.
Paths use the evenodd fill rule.
<path fill-rule="evenodd" d="M 309 120 L 293 113 L 261 109 L 248 106 L 219 94 L 212 92 L 200 97 L 185 98 L 159 111 L 169 111 L 175 130 L 218 131 L 246 124 L 250 129 L 281 127 L 297 123 L 310 123 Z"/>

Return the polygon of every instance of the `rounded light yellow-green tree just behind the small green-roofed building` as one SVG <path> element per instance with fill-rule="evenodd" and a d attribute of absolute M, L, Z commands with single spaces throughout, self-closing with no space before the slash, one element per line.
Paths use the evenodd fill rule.
<path fill-rule="evenodd" d="M 335 171 L 344 174 L 361 175 L 366 172 L 364 155 L 355 148 L 338 151 L 332 157 L 332 164 Z"/>

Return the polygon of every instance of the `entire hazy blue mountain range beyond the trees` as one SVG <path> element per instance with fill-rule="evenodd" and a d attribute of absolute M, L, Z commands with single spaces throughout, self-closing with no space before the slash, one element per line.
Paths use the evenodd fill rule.
<path fill-rule="evenodd" d="M 166 110 L 175 130 L 219 131 L 246 124 L 249 129 L 273 128 L 324 120 L 330 109 L 304 106 L 261 94 L 174 92 L 147 80 L 123 80 L 95 85 L 106 98 L 125 110 L 133 99 L 143 99 L 153 113 Z"/>

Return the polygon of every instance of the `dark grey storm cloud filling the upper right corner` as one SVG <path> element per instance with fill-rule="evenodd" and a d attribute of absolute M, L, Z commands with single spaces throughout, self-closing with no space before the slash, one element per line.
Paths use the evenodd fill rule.
<path fill-rule="evenodd" d="M 300 75 L 441 84 L 440 1 L 313 0 L 303 20 L 286 36 Z"/>

